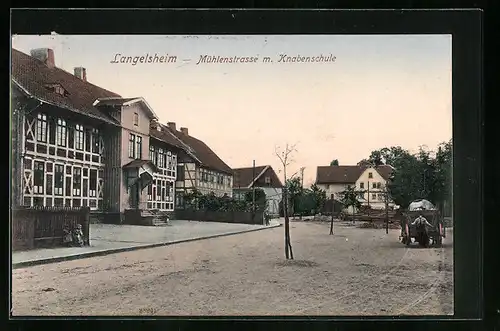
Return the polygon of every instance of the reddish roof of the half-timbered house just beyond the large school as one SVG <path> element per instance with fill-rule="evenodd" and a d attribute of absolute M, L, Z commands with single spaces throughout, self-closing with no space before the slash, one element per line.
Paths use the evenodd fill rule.
<path fill-rule="evenodd" d="M 163 126 L 163 128 L 172 132 L 177 139 L 187 145 L 189 147 L 189 152 L 199 161 L 201 166 L 223 172 L 228 175 L 233 174 L 233 169 L 222 161 L 222 159 L 217 156 L 217 154 L 215 154 L 215 152 L 203 141 L 180 131 L 172 130 L 166 126 Z"/>

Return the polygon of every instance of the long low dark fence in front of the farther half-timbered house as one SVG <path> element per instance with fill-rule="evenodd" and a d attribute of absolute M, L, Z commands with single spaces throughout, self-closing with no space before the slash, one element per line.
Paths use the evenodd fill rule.
<path fill-rule="evenodd" d="M 264 212 L 256 211 L 208 211 L 179 209 L 175 211 L 175 219 L 203 221 L 203 222 L 222 222 L 222 223 L 243 223 L 243 224 L 264 224 Z"/>

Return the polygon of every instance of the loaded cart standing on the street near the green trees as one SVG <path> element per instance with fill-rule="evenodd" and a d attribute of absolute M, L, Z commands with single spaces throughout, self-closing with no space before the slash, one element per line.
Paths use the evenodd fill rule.
<path fill-rule="evenodd" d="M 421 203 L 422 201 L 427 203 Z M 417 206 L 417 207 L 415 207 Z M 426 200 L 417 200 L 403 212 L 401 219 L 401 242 L 407 246 L 412 239 L 420 246 L 427 247 L 430 242 L 441 246 L 446 238 L 446 228 L 438 209 Z"/>

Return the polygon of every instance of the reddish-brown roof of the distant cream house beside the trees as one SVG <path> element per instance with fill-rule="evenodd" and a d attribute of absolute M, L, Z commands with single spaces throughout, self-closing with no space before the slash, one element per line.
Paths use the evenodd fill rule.
<path fill-rule="evenodd" d="M 316 184 L 353 184 L 359 176 L 368 169 L 367 166 L 319 166 L 316 170 Z M 393 168 L 381 165 L 374 169 L 384 178 L 389 180 Z"/>

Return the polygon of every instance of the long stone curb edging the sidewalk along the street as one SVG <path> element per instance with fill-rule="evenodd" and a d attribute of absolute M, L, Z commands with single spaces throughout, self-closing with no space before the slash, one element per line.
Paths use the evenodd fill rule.
<path fill-rule="evenodd" d="M 12 269 L 20 269 L 20 268 L 26 268 L 26 267 L 33 267 L 33 266 L 36 266 L 36 265 L 57 263 L 57 262 L 63 262 L 63 261 L 86 259 L 86 258 L 89 258 L 89 257 L 96 257 L 96 256 L 104 256 L 104 255 L 110 255 L 110 254 L 115 254 L 115 253 L 130 252 L 130 251 L 135 251 L 135 250 L 139 250 L 139 249 L 147 249 L 147 248 L 156 248 L 156 247 L 162 247 L 162 246 L 169 246 L 169 245 L 180 244 L 180 243 L 185 243 L 185 242 L 190 242 L 190 241 L 203 240 L 203 239 L 212 239 L 212 238 L 218 238 L 218 237 L 226 237 L 226 236 L 232 236 L 232 235 L 235 235 L 235 234 L 248 233 L 248 232 L 254 232 L 254 231 L 261 231 L 261 230 L 272 229 L 272 228 L 278 228 L 280 226 L 283 226 L 283 224 L 268 225 L 268 226 L 266 226 L 264 228 L 250 229 L 250 230 L 237 231 L 237 232 L 228 232 L 228 233 L 215 234 L 215 235 L 204 236 L 204 237 L 195 237 L 195 238 L 189 238 L 189 239 L 173 240 L 173 241 L 162 242 L 162 243 L 154 243 L 154 244 L 146 244 L 146 245 L 138 245 L 138 246 L 130 246 L 130 247 L 121 247 L 121 248 L 112 248 L 112 249 L 105 249 L 105 250 L 94 251 L 94 252 L 87 252 L 87 253 L 80 253 L 80 254 L 73 254 L 73 255 L 66 255 L 66 256 L 49 257 L 49 258 L 38 259 L 38 260 L 28 260 L 28 261 L 23 261 L 23 262 L 18 262 L 18 263 L 12 263 Z"/>

